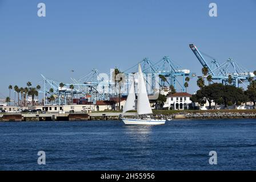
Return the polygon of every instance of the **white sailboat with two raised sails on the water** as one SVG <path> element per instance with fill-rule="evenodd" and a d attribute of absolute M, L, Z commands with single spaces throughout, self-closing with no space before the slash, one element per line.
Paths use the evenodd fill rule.
<path fill-rule="evenodd" d="M 141 71 L 141 64 L 138 66 L 138 98 L 135 98 L 135 88 L 134 88 L 134 79 L 131 83 L 131 88 L 129 89 L 129 94 L 127 96 L 127 100 L 125 103 L 125 107 L 123 107 L 121 120 L 125 123 L 125 125 L 164 125 L 165 120 L 163 119 L 153 119 L 150 118 L 149 114 L 153 114 L 149 97 L 147 97 L 147 90 L 145 81 L 143 78 L 143 73 Z M 129 110 L 135 110 L 135 104 L 137 101 L 137 115 L 135 118 L 123 118 L 123 114 L 125 114 Z M 146 118 L 141 118 L 142 115 L 146 115 Z"/>

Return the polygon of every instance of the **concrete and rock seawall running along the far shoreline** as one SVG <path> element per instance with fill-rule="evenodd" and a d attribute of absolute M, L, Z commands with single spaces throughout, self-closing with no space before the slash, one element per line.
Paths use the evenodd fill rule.
<path fill-rule="evenodd" d="M 87 120 L 117 120 L 118 112 L 95 112 L 95 113 L 17 113 L 0 114 L 0 121 L 87 121 Z M 136 113 L 125 113 L 126 118 L 133 118 Z M 218 118 L 256 118 L 256 113 L 243 112 L 204 112 L 204 113 L 175 113 L 155 114 L 155 118 L 163 119 L 218 119 Z"/>

